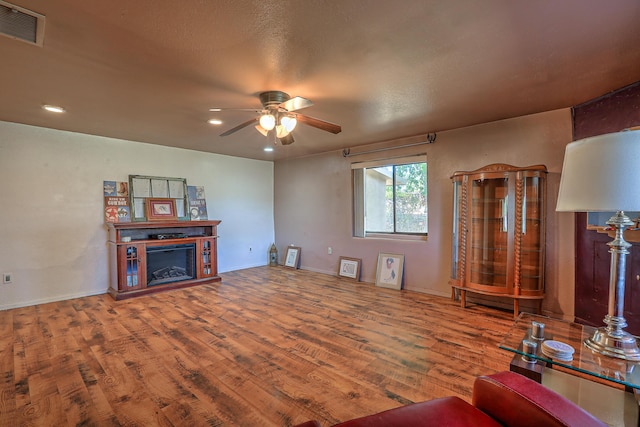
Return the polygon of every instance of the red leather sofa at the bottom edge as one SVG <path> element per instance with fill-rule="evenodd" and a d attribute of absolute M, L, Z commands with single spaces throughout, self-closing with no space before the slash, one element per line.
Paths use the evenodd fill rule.
<path fill-rule="evenodd" d="M 543 385 L 514 372 L 476 378 L 472 404 L 456 396 L 413 403 L 334 427 L 603 427 L 591 414 Z M 307 421 L 296 427 L 322 427 Z"/>

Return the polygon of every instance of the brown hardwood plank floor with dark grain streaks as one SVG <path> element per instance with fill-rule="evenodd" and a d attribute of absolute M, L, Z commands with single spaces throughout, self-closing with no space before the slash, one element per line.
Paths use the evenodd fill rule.
<path fill-rule="evenodd" d="M 512 313 L 284 267 L 0 311 L 0 426 L 323 426 L 508 369 Z"/>

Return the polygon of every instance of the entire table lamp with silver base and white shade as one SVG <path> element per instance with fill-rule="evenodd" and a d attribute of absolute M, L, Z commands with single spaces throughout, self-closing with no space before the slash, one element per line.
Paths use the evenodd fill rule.
<path fill-rule="evenodd" d="M 640 130 L 585 138 L 567 145 L 556 211 L 616 212 L 607 221 L 615 230 L 611 253 L 606 326 L 585 340 L 591 350 L 640 360 L 636 338 L 624 331 L 625 262 L 631 244 L 624 230 L 634 223 L 624 211 L 640 211 Z"/>

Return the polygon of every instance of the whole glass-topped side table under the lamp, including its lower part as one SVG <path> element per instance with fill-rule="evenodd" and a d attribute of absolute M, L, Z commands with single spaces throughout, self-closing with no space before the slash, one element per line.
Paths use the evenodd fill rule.
<path fill-rule="evenodd" d="M 638 427 L 640 363 L 603 356 L 587 348 L 583 343 L 595 330 L 574 322 L 521 313 L 499 346 L 514 353 L 511 371 L 542 383 L 608 425 Z M 549 357 L 553 352 L 548 345 L 545 345 L 547 354 L 542 351 L 545 341 L 571 346 L 574 351 L 571 360 Z"/>

